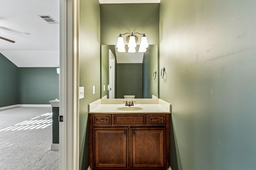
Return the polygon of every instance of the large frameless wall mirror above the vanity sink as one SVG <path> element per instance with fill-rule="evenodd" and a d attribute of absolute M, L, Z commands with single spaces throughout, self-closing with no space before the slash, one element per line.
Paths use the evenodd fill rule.
<path fill-rule="evenodd" d="M 158 97 L 158 45 L 149 45 L 145 53 L 138 48 L 119 53 L 115 45 L 101 45 L 102 98 Z"/>

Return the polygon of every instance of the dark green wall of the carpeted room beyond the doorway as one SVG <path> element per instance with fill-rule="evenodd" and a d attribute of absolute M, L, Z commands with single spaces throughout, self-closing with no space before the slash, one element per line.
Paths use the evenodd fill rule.
<path fill-rule="evenodd" d="M 0 53 L 0 107 L 50 104 L 59 98 L 56 68 L 17 67 Z"/>

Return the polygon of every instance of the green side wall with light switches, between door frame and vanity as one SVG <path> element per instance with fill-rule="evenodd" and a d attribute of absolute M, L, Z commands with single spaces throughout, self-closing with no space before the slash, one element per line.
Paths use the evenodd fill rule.
<path fill-rule="evenodd" d="M 79 14 L 79 86 L 84 98 L 79 102 L 80 169 L 89 166 L 88 104 L 100 98 L 100 4 L 97 0 L 80 0 Z M 95 94 L 92 94 L 95 86 Z"/>

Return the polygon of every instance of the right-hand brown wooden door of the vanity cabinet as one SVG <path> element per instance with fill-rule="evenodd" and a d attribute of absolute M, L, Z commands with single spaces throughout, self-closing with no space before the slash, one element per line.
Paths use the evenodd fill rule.
<path fill-rule="evenodd" d="M 131 129 L 132 168 L 164 168 L 165 129 Z"/>

